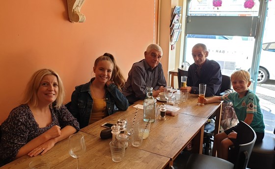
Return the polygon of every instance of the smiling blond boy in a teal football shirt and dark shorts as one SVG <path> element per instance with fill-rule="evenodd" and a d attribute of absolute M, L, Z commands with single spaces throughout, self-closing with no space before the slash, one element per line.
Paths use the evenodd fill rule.
<path fill-rule="evenodd" d="M 245 121 L 253 128 L 257 135 L 256 142 L 261 142 L 265 134 L 265 124 L 261 112 L 259 98 L 248 87 L 251 84 L 250 74 L 244 70 L 238 70 L 231 74 L 231 83 L 234 93 L 224 96 L 205 98 L 204 104 L 219 101 L 232 102 L 239 121 Z M 238 126 L 231 127 L 217 134 L 214 144 L 217 146 L 217 156 L 224 160 L 228 159 L 228 150 L 234 145 L 237 138 Z"/>

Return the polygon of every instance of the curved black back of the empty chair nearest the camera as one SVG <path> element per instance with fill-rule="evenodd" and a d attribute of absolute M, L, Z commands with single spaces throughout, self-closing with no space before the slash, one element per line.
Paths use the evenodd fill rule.
<path fill-rule="evenodd" d="M 244 121 L 240 121 L 235 150 L 238 153 L 234 163 L 234 169 L 246 169 L 251 151 L 256 141 L 255 131 Z"/>

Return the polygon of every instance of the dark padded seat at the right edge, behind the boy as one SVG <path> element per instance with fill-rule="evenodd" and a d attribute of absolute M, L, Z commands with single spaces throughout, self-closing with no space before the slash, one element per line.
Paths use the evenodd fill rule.
<path fill-rule="evenodd" d="M 263 154 L 275 154 L 275 138 L 265 136 L 261 143 L 255 143 L 252 152 Z"/>

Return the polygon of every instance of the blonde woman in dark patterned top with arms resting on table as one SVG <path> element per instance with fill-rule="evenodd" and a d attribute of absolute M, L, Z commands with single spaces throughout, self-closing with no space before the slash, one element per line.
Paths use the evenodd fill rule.
<path fill-rule="evenodd" d="M 1 125 L 0 165 L 29 155 L 45 154 L 55 143 L 79 130 L 78 121 L 64 105 L 59 75 L 41 69 L 30 78 L 23 104 Z"/>

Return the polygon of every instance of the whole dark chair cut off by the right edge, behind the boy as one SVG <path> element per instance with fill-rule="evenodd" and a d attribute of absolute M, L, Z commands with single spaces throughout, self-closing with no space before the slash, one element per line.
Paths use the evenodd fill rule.
<path fill-rule="evenodd" d="M 274 128 L 275 134 L 275 128 Z M 255 143 L 247 165 L 249 169 L 275 169 L 275 137 L 265 135 L 261 143 Z"/>

